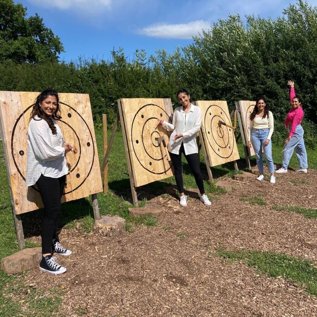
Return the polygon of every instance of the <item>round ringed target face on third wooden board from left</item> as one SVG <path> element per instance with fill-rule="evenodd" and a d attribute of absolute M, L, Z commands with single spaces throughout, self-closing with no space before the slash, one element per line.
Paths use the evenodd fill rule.
<path fill-rule="evenodd" d="M 220 106 L 209 106 L 205 114 L 205 133 L 208 143 L 217 156 L 227 159 L 233 153 L 234 133 L 225 125 L 219 126 L 219 121 L 231 125 L 231 120 Z M 223 151 L 224 149 L 226 152 Z"/>

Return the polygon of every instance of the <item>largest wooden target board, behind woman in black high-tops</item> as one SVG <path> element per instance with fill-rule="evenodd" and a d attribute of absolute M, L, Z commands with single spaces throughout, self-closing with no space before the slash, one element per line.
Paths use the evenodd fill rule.
<path fill-rule="evenodd" d="M 27 131 L 30 114 L 39 93 L 0 92 L 3 147 L 15 214 L 43 207 L 37 186 L 25 183 Z M 57 121 L 65 142 L 73 145 L 66 155 L 69 174 L 62 202 L 103 191 L 89 95 L 58 94 L 62 119 Z"/>

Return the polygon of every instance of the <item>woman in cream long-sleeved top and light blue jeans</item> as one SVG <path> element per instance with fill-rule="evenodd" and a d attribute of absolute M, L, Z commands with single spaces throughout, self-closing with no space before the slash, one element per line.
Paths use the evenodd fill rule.
<path fill-rule="evenodd" d="M 248 147 L 254 148 L 256 154 L 259 176 L 257 180 L 264 179 L 264 167 L 262 148 L 264 149 L 266 166 L 271 174 L 270 183 L 275 183 L 274 163 L 272 159 L 271 136 L 274 130 L 273 114 L 269 111 L 265 99 L 258 99 L 253 112 L 250 114 L 250 131 L 248 136 Z"/>

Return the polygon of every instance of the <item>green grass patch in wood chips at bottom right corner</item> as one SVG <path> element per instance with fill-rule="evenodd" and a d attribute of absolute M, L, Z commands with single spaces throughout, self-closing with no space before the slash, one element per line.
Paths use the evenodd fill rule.
<path fill-rule="evenodd" d="M 261 251 L 219 251 L 216 255 L 229 263 L 242 261 L 268 276 L 282 277 L 317 296 L 317 268 L 316 264 L 309 260 L 294 258 L 284 253 Z"/>

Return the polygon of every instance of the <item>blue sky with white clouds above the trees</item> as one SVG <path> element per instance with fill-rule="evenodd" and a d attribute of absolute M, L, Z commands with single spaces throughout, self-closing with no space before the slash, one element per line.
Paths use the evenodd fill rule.
<path fill-rule="evenodd" d="M 15 0 L 38 13 L 58 35 L 65 53 L 60 59 L 78 56 L 108 60 L 112 49 L 124 49 L 133 59 L 135 50 L 149 54 L 192 42 L 192 36 L 229 14 L 262 17 L 282 15 L 296 0 Z M 317 0 L 308 0 L 317 5 Z"/>

